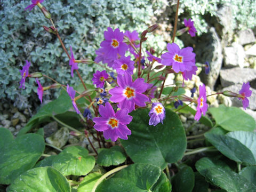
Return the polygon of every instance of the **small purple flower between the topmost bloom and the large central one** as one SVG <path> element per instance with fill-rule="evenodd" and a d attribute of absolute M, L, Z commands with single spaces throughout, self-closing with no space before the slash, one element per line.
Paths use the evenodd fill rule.
<path fill-rule="evenodd" d="M 117 74 L 124 75 L 128 73 L 133 74 L 134 61 L 131 61 L 131 56 L 122 56 L 120 59 L 115 60 L 113 68 L 116 69 Z"/>

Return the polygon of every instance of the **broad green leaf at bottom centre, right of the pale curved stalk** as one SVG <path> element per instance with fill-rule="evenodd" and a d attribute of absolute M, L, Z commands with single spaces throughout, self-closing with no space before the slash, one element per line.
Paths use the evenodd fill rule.
<path fill-rule="evenodd" d="M 146 192 L 157 182 L 160 174 L 161 170 L 157 166 L 135 163 L 119 171 L 114 177 L 100 183 L 96 191 Z"/>

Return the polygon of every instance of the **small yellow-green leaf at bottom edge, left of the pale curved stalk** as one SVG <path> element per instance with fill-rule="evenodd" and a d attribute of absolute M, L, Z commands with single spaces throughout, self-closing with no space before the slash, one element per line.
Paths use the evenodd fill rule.
<path fill-rule="evenodd" d="M 79 184 L 77 192 L 91 192 L 94 184 L 100 179 L 102 175 L 100 173 L 90 173 Z"/>

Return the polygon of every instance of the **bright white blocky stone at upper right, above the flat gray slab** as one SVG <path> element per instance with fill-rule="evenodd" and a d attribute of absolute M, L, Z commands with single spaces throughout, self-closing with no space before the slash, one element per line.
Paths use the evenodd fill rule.
<path fill-rule="evenodd" d="M 242 45 L 234 42 L 230 47 L 224 47 L 224 67 L 240 67 L 244 68 L 245 51 Z"/>

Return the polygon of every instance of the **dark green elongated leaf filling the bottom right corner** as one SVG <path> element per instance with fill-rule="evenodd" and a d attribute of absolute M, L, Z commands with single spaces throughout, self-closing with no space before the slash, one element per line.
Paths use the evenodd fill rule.
<path fill-rule="evenodd" d="M 213 185 L 228 192 L 252 192 L 256 191 L 255 186 L 241 175 L 226 169 L 225 163 L 204 157 L 196 162 L 197 171 L 202 174 Z M 220 166 L 222 165 L 222 166 Z"/>

